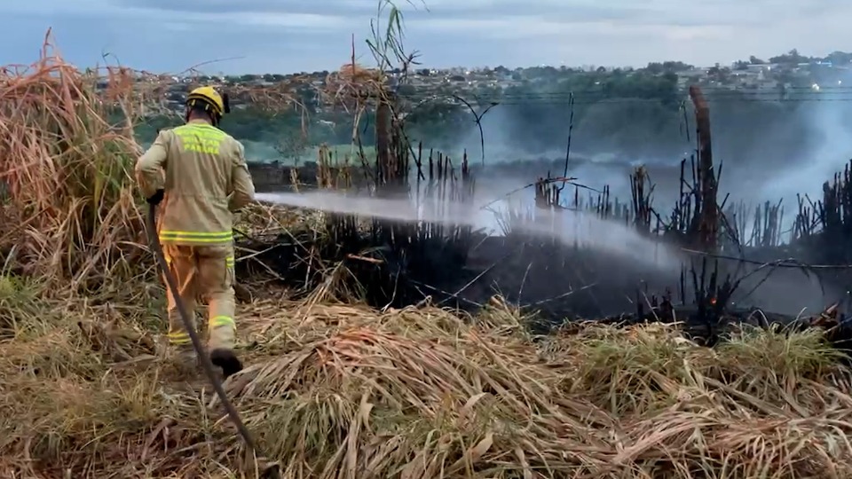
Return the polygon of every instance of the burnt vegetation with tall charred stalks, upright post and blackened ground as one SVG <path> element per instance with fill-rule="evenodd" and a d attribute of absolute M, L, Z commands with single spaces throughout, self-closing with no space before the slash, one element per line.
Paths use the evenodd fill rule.
<path fill-rule="evenodd" d="M 353 64 L 351 71 L 357 68 Z M 356 82 L 357 75 L 351 76 L 348 80 Z M 407 198 L 413 208 L 441 212 L 473 205 L 475 176 L 488 181 L 509 168 L 480 167 L 474 173 L 469 163 L 479 158 L 470 161 L 467 153 L 450 158 L 413 144 L 406 137 L 404 99 L 381 82 L 367 88 L 360 81 L 358 88 L 350 86 L 347 98 L 335 100 L 375 112 L 375 154 L 364 153 L 356 141 L 356 153 L 343 158 L 320 148 L 317 161 L 301 167 L 255 165 L 260 189 L 345 190 Z M 272 273 L 305 294 L 317 294 L 321 283 L 327 286 L 319 288 L 324 294 L 354 294 L 379 308 L 431 302 L 479 310 L 499 294 L 522 311 L 536 312 L 533 328 L 540 332 L 583 318 L 684 321 L 695 338 L 714 343 L 731 323 L 818 322 L 832 326 L 842 339 L 842 295 L 826 300 L 824 310 L 799 318 L 768 312 L 777 309 L 774 304 L 753 304 L 750 298 L 777 278 L 846 289 L 844 265 L 852 263 L 844 247 L 852 236 L 849 167 L 824 184 L 823 198 L 801 197 L 793 227 L 782 231 L 780 203 L 749 210 L 719 197 L 722 164 L 713 159 L 709 107 L 698 87 L 690 88 L 690 99 L 695 149 L 681 162 L 679 198 L 669 211 L 654 207 L 655 185 L 644 167 L 631 174 L 627 200 L 613 198 L 608 187 L 597 190 L 569 177 L 569 125 L 563 171 L 530 178 L 528 189 L 514 192 L 532 190 L 534 208 L 500 212 L 502 235 L 487 235 L 468 224 L 328 214 L 321 239 L 315 232 L 301 238 L 280 232 L 244 240 L 242 246 L 254 253 L 243 262 L 242 273 Z M 473 106 L 471 112 L 478 122 L 482 113 Z M 659 255 L 678 251 L 682 270 L 664 271 L 581 241 L 542 234 L 548 228 L 556 231 L 560 221 L 571 221 L 578 211 L 628 225 L 656 242 Z"/>

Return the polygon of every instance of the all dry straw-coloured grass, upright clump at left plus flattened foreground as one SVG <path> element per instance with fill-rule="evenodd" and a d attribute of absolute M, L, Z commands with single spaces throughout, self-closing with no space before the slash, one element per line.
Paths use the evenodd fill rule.
<path fill-rule="evenodd" d="M 20 224 L 0 239 L 0 476 L 256 477 L 201 375 L 158 348 L 138 147 L 103 120 L 137 95 L 92 81 L 47 57 L 0 78 Z M 317 223 L 279 213 L 246 227 Z M 675 326 L 533 338 L 522 323 L 499 301 L 466 318 L 258 300 L 226 388 L 293 478 L 852 477 L 852 382 L 817 330 L 705 349 Z"/>

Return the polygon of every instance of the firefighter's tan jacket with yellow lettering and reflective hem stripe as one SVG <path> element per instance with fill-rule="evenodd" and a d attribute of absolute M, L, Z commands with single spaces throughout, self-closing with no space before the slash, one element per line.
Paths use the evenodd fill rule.
<path fill-rule="evenodd" d="M 207 122 L 162 130 L 136 163 L 146 198 L 164 190 L 157 222 L 161 243 L 233 243 L 233 212 L 254 200 L 243 145 Z"/>

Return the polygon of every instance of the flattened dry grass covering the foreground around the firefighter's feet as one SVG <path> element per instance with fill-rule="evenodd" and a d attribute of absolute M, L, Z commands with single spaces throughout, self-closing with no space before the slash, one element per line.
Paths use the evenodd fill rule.
<path fill-rule="evenodd" d="M 255 476 L 145 307 L 20 294 L 4 298 L 30 304 L 0 361 L 4 477 Z M 848 372 L 816 330 L 706 349 L 661 325 L 533 341 L 499 305 L 245 310 L 249 366 L 226 387 L 286 477 L 852 476 Z"/>

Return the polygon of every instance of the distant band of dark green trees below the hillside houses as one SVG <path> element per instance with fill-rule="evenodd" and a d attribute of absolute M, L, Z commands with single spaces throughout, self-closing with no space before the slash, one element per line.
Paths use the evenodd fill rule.
<path fill-rule="evenodd" d="M 837 63 L 848 62 L 852 54 L 835 52 L 828 58 Z M 808 60 L 793 50 L 766 61 L 800 64 Z M 749 64 L 763 62 L 754 57 L 748 60 Z M 437 148 L 453 148 L 477 132 L 476 114 L 491 107 L 493 112 L 488 115 L 500 111 L 507 128 L 516 136 L 511 141 L 518 145 L 546 148 L 564 142 L 565 130 L 572 117 L 577 124 L 603 125 L 605 136 L 615 143 L 628 141 L 626 138 L 633 138 L 630 142 L 639 141 L 636 135 L 647 137 L 649 131 L 662 136 L 682 129 L 679 125 L 683 122 L 682 104 L 687 98 L 687 85 L 701 81 L 700 75 L 705 82 L 731 82 L 736 66 L 711 67 L 701 72 L 682 62 L 671 61 L 651 63 L 636 70 L 533 67 L 510 71 L 496 67 L 492 71 L 495 75 L 508 75 L 512 79 L 510 86 L 482 82 L 481 86 L 471 89 L 451 80 L 437 91 L 430 91 L 429 97 L 434 99 L 429 100 L 410 82 L 400 82 L 396 90 L 398 110 L 405 112 L 403 124 L 408 136 Z M 695 78 L 690 77 L 693 71 Z M 414 75 L 421 74 L 430 75 L 430 72 L 414 72 Z M 276 78 L 271 75 L 269 80 Z M 792 104 L 782 104 L 782 100 L 791 99 L 791 91 L 813 81 L 809 75 L 800 75 L 792 82 L 791 78 L 783 80 L 793 84 L 793 90 L 785 90 L 785 82 L 779 80 L 777 91 L 713 88 L 708 96 L 711 100 L 714 95 L 723 97 L 726 104 L 723 110 L 762 118 L 795 108 Z M 353 135 L 359 136 L 365 145 L 375 142 L 371 112 L 359 118 L 356 128 L 351 114 L 321 105 L 315 90 L 304 88 L 298 95 L 306 106 L 304 110 L 294 108 L 270 113 L 249 105 L 229 114 L 222 128 L 247 144 L 247 150 L 264 161 L 295 159 L 305 150 L 321 144 L 350 144 Z M 570 105 L 572 99 L 573 105 Z M 180 120 L 177 116 L 149 119 L 139 125 L 138 137 L 142 143 L 148 143 L 154 139 L 156 130 L 175 126 Z M 637 130 L 636 125 L 641 125 L 640 132 L 630 133 L 631 129 Z M 596 136 L 600 135 L 596 133 Z"/>

